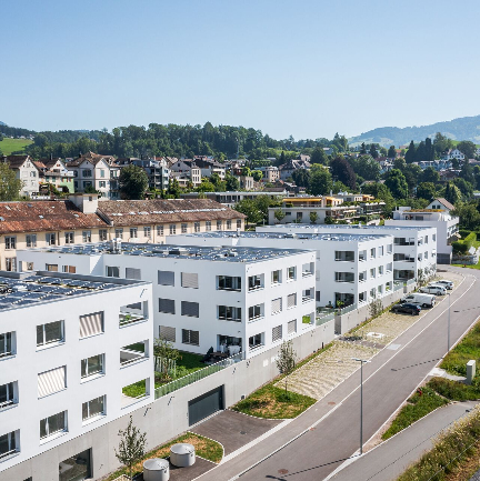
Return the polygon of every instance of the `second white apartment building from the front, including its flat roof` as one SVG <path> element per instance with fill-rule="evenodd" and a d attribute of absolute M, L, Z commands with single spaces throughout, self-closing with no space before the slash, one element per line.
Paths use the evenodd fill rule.
<path fill-rule="evenodd" d="M 152 282 L 152 333 L 183 351 L 241 350 L 248 358 L 314 328 L 313 251 L 98 243 L 18 251 L 18 258 L 22 270 L 72 267 Z"/>

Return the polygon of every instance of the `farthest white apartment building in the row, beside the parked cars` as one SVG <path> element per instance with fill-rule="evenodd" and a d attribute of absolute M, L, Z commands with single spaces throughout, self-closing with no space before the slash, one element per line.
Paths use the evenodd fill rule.
<path fill-rule="evenodd" d="M 387 222 L 387 221 L 386 221 Z M 408 281 L 437 272 L 437 229 L 428 226 L 308 226 L 258 227 L 257 232 L 393 236 L 393 281 Z"/>

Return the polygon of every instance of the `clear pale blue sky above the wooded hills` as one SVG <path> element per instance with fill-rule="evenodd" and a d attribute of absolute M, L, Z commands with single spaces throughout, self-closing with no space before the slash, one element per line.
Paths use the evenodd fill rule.
<path fill-rule="evenodd" d="M 0 121 L 352 137 L 480 114 L 478 0 L 3 0 Z"/>

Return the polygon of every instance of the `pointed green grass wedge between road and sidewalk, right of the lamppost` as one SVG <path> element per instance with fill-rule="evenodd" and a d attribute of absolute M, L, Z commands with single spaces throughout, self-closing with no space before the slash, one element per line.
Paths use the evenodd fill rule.
<path fill-rule="evenodd" d="M 397 418 L 393 420 L 390 428 L 382 434 L 382 439 L 387 440 L 391 438 L 413 424 L 419 419 L 434 411 L 437 408 L 448 403 L 449 401 L 438 395 L 433 389 L 429 387 L 421 388 L 421 394 L 417 391 L 407 401 L 407 404 L 397 414 Z"/>

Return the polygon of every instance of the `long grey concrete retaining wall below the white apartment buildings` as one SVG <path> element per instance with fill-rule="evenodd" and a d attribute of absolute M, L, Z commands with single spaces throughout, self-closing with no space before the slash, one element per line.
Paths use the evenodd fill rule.
<path fill-rule="evenodd" d="M 327 322 L 292 339 L 299 357 L 306 358 L 322 344 L 329 343 L 334 337 L 333 324 L 333 321 Z M 223 399 L 228 408 L 238 402 L 242 395 L 250 394 L 273 379 L 278 374 L 274 363 L 277 353 L 278 347 L 261 352 L 133 411 L 131 414 L 134 425 L 147 432 L 147 449 L 151 450 L 189 429 L 188 402 L 190 400 L 223 385 Z M 92 450 L 93 479 L 98 480 L 119 468 L 114 449 L 118 448 L 120 440 L 118 431 L 127 427 L 128 420 L 128 415 L 119 418 L 0 472 L 0 481 L 24 480 L 29 477 L 33 480 L 58 481 L 59 463 L 87 449 Z"/>

